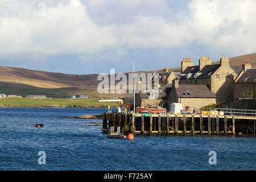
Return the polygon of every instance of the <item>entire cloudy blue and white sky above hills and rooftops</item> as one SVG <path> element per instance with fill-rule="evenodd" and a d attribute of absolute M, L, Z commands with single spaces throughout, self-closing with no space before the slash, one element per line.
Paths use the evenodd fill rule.
<path fill-rule="evenodd" d="M 0 65 L 75 75 L 256 52 L 255 0 L 0 0 Z"/>

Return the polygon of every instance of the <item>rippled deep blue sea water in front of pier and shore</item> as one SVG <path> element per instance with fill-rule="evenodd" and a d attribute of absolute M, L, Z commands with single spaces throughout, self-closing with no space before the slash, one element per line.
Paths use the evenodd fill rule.
<path fill-rule="evenodd" d="M 110 139 L 101 126 L 60 116 L 105 109 L 0 108 L 0 170 L 255 170 L 255 137 Z M 36 123 L 44 127 L 36 128 Z M 38 152 L 46 152 L 46 165 Z M 210 165 L 209 151 L 217 164 Z"/>

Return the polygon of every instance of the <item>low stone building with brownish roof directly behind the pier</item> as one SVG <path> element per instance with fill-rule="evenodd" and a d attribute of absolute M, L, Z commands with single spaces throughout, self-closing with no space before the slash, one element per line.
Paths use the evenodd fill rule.
<path fill-rule="evenodd" d="M 178 80 L 174 80 L 168 108 L 172 103 L 182 104 L 186 111 L 199 110 L 203 106 L 216 104 L 216 94 L 210 92 L 207 85 L 179 84 Z"/>

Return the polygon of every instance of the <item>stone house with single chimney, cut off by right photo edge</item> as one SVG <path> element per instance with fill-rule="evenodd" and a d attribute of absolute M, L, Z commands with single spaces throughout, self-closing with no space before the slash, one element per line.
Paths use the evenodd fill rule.
<path fill-rule="evenodd" d="M 256 68 L 251 68 L 251 64 L 245 62 L 242 65 L 242 71 L 238 74 L 236 82 L 234 83 L 234 100 L 237 98 L 246 98 L 256 92 Z M 251 95 L 251 96 L 249 96 Z"/>

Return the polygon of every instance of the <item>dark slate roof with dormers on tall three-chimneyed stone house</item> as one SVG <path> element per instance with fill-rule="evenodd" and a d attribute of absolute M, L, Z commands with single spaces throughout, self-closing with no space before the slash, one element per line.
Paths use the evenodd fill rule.
<path fill-rule="evenodd" d="M 186 68 L 182 73 L 180 74 L 185 74 L 181 75 L 180 79 L 187 79 L 187 74 L 191 73 L 191 77 L 189 78 L 195 78 L 196 73 L 201 73 L 201 75 L 197 76 L 197 78 L 207 78 L 213 75 L 214 72 L 217 71 L 218 68 L 220 68 L 220 64 L 212 64 L 212 65 L 205 65 L 201 71 L 199 71 L 199 66 L 193 66 L 193 67 L 188 67 Z"/>

